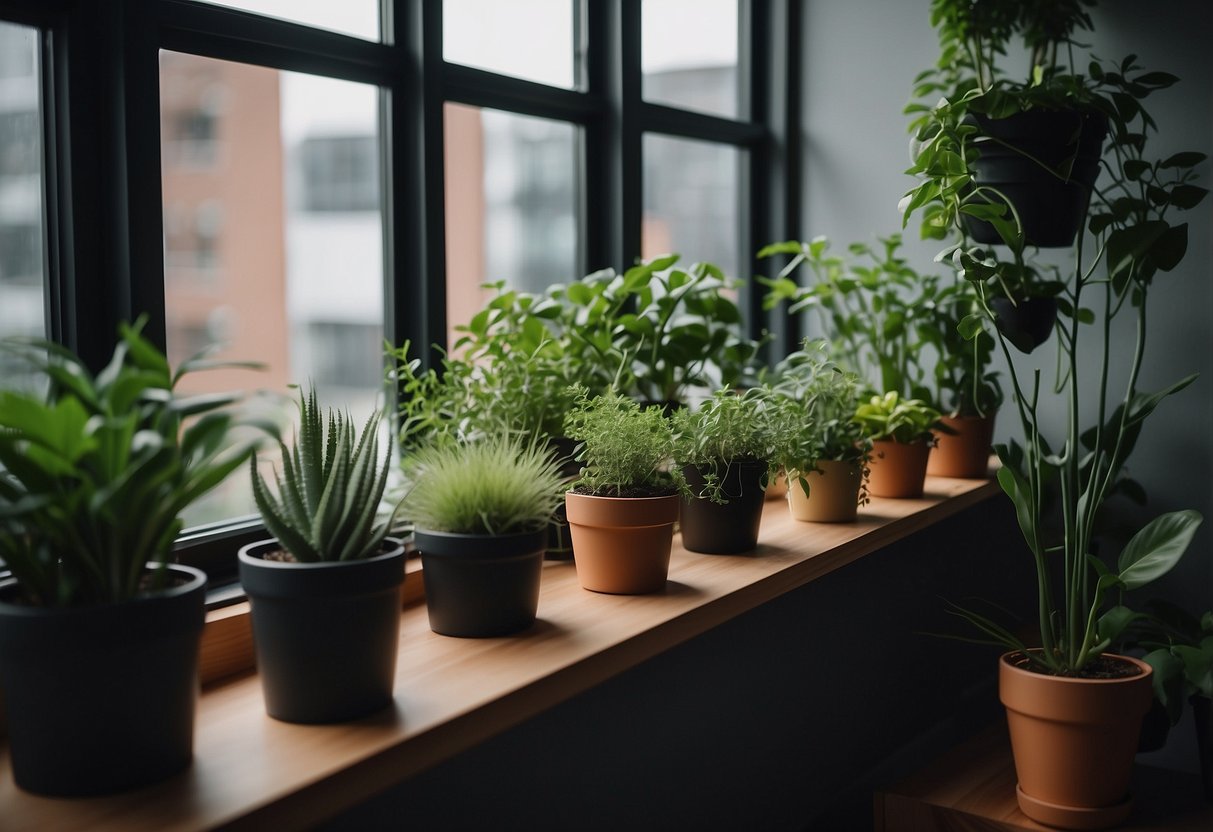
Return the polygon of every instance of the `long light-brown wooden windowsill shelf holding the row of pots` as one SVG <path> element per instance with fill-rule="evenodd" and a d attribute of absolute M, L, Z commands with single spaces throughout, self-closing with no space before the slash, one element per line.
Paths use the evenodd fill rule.
<path fill-rule="evenodd" d="M 853 524 L 797 523 L 784 501 L 768 501 L 752 553 L 688 553 L 676 537 L 670 583 L 655 595 L 586 592 L 571 563 L 548 563 L 539 621 L 511 638 L 437 636 L 425 606 L 410 606 L 400 623 L 393 710 L 341 725 L 280 723 L 266 717 L 260 682 L 246 673 L 204 691 L 190 769 L 136 792 L 72 800 L 28 794 L 15 786 L 0 748 L 0 826 L 306 828 L 997 494 L 989 480 L 929 478 L 923 498 L 872 500 Z"/>

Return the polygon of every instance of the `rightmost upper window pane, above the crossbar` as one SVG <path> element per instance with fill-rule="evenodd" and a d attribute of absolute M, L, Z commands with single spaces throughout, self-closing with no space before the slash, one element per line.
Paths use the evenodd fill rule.
<path fill-rule="evenodd" d="M 644 98 L 738 118 L 738 0 L 644 0 Z"/>

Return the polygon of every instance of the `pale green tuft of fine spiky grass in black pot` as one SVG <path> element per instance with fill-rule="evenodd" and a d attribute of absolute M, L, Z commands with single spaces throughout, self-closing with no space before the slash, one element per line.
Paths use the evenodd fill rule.
<path fill-rule="evenodd" d="M 542 529 L 563 498 L 560 466 L 547 448 L 518 435 L 435 444 L 405 460 L 405 511 L 417 528 L 465 535 Z"/>

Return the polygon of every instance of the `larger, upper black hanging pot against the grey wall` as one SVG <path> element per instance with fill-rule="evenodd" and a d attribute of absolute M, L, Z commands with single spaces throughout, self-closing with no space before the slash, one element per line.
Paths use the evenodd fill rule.
<path fill-rule="evenodd" d="M 1015 206 L 1027 245 L 1074 243 L 1099 176 L 1106 118 L 1033 109 L 1004 119 L 978 115 L 976 121 L 986 137 L 978 139 L 976 183 L 997 188 Z M 990 223 L 969 216 L 964 222 L 978 243 L 1003 241 Z"/>

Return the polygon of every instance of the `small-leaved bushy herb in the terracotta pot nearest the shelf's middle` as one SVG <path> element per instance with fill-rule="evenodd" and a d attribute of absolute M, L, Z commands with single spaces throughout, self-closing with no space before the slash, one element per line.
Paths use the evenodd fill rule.
<path fill-rule="evenodd" d="M 564 431 L 581 443 L 576 490 L 600 497 L 685 492 L 679 472 L 670 469 L 673 433 L 660 408 L 642 408 L 615 391 L 591 398 L 582 389 Z"/>

